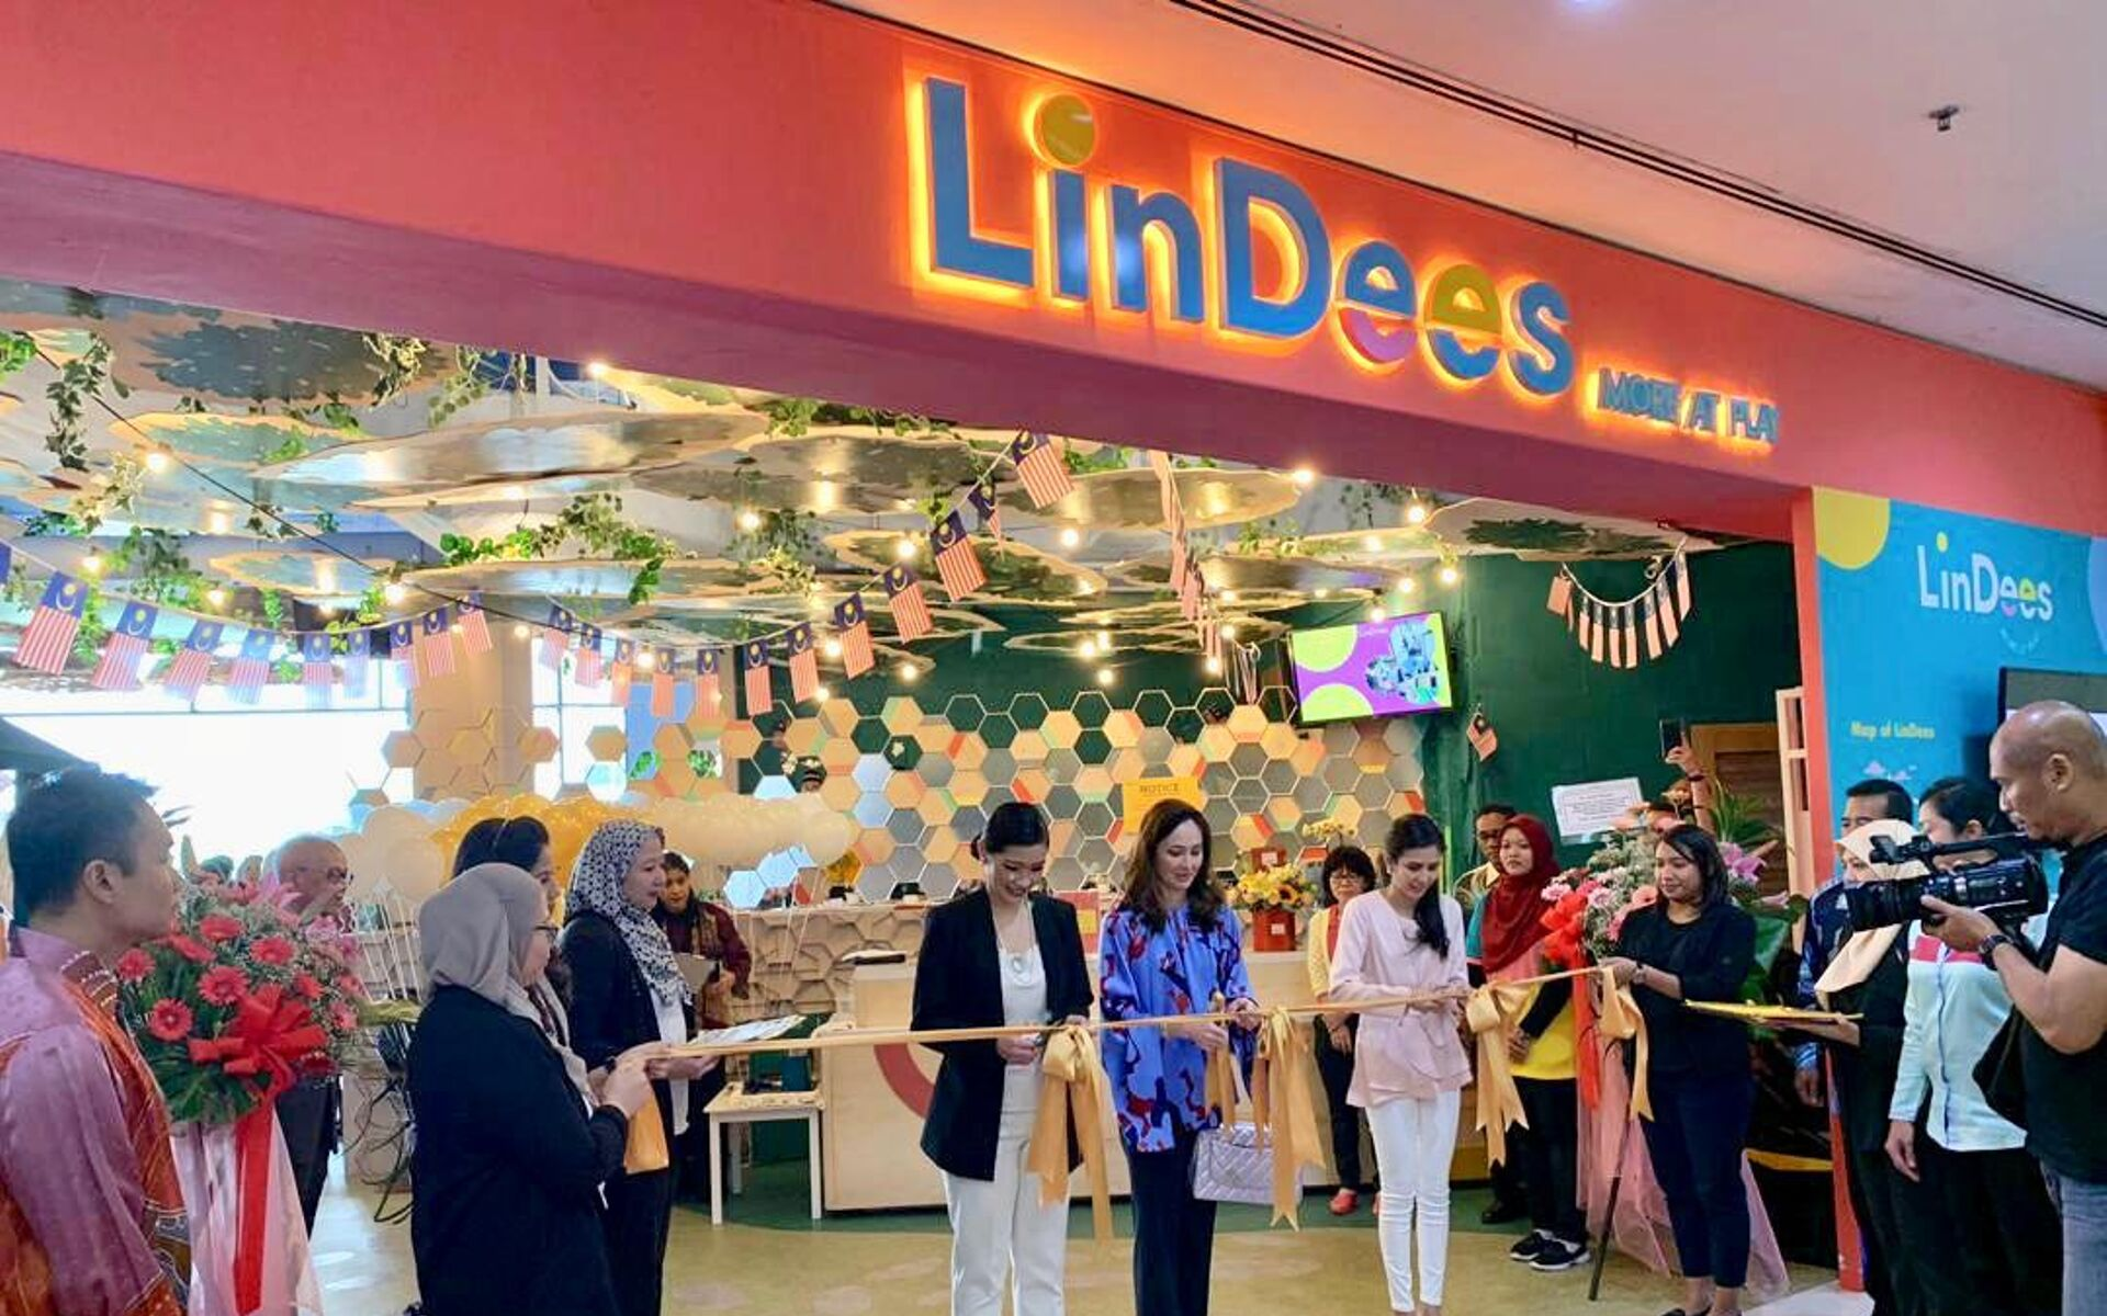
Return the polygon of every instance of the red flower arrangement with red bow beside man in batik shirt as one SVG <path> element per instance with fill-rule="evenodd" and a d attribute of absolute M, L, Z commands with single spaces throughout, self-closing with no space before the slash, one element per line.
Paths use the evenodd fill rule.
<path fill-rule="evenodd" d="M 118 990 L 169 1116 L 234 1122 L 341 1068 L 360 1028 L 356 943 L 247 886 L 183 893 L 171 935 L 124 952 Z"/>

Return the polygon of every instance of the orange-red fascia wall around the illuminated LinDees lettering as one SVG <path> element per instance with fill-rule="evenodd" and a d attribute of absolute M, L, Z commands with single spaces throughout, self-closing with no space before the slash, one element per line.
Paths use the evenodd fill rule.
<path fill-rule="evenodd" d="M 1372 377 L 1323 331 L 1254 354 L 917 288 L 910 72 L 969 86 L 986 230 L 1028 232 L 1018 124 L 1068 86 L 1096 177 L 1190 196 L 1218 154 L 1281 171 L 1336 240 L 1551 280 L 1582 375 L 1715 379 L 1776 400 L 1783 442 L 1591 425 L 1578 387 L 1530 406 L 1420 362 Z M 25 278 L 1774 537 L 1810 484 L 2107 531 L 2099 394 L 820 4 L 72 0 L 0 19 L 0 270 Z"/>

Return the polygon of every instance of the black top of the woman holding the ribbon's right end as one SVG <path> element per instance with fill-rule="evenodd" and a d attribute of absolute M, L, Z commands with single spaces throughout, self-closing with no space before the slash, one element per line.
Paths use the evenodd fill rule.
<path fill-rule="evenodd" d="M 1732 901 L 1707 905 L 1694 922 L 1671 922 L 1667 903 L 1624 918 L 1618 952 L 1683 983 L 1683 1000 L 1740 1000 L 1755 964 L 1755 920 Z M 1658 1074 L 1721 1078 L 1749 1072 L 1749 1030 L 1736 1019 L 1683 1009 L 1681 1000 L 1633 988 L 1646 1015 L 1648 1065 Z"/>

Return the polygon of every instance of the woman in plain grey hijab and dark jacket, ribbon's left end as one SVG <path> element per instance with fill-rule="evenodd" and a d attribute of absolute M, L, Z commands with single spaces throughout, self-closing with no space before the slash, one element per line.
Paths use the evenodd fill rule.
<path fill-rule="evenodd" d="M 529 990 L 554 929 L 525 872 L 472 868 L 417 912 L 424 1015 L 409 1051 L 417 1110 L 411 1247 L 430 1316 L 617 1316 L 600 1181 L 651 1099 L 615 1065 L 588 1114 Z"/>

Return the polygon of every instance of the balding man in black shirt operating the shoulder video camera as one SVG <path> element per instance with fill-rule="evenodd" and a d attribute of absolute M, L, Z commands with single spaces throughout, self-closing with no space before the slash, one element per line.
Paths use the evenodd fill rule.
<path fill-rule="evenodd" d="M 2027 1150 L 2063 1217 L 2063 1312 L 2107 1312 L 2107 735 L 2084 710 L 2029 703 L 1997 729 L 1989 771 L 2027 836 L 2067 851 L 2033 960 L 1989 916 L 1926 899 L 1941 941 L 1997 969 L 2021 1015 Z"/>

